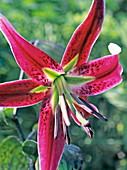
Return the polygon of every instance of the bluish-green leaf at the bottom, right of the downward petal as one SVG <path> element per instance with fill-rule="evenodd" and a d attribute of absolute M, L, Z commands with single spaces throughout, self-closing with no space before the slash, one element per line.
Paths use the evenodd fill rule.
<path fill-rule="evenodd" d="M 65 145 L 58 170 L 82 169 L 83 161 L 83 155 L 79 147 L 75 145 Z"/>

